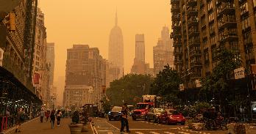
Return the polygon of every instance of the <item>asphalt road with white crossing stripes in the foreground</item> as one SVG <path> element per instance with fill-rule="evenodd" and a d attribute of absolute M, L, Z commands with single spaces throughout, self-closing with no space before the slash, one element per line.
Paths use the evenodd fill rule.
<path fill-rule="evenodd" d="M 108 121 L 107 119 L 93 119 L 96 130 L 99 134 L 119 134 L 121 122 Z M 143 120 L 133 121 L 129 118 L 129 130 L 132 134 L 221 134 L 226 131 L 193 131 L 189 130 L 186 125 L 166 125 L 147 122 Z"/>

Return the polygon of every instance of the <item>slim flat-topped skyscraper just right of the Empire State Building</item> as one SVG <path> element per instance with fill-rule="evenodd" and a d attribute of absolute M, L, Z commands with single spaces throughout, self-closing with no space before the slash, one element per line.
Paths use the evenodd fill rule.
<path fill-rule="evenodd" d="M 144 34 L 135 35 L 135 59 L 131 72 L 137 74 L 146 73 Z"/>

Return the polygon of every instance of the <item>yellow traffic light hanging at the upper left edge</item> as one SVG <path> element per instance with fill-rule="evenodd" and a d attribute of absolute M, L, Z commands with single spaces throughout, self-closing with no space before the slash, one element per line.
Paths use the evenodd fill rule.
<path fill-rule="evenodd" d="M 7 26 L 9 31 L 16 30 L 16 23 L 15 23 L 15 13 L 11 12 L 4 18 L 4 25 Z"/>

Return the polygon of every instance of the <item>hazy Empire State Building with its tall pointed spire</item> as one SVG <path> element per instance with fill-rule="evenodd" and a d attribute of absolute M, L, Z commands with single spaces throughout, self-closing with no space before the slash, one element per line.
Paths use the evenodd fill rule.
<path fill-rule="evenodd" d="M 115 12 L 115 26 L 110 31 L 108 58 L 111 82 L 121 77 L 124 67 L 124 41 L 122 31 L 118 26 L 117 12 Z"/>

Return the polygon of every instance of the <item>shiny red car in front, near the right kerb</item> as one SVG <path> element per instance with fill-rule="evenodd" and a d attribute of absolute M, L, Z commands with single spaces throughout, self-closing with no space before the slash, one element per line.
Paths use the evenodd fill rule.
<path fill-rule="evenodd" d="M 185 117 L 182 116 L 182 113 L 179 113 L 174 109 L 166 109 L 160 116 L 158 116 L 157 122 L 165 122 L 166 124 L 185 124 Z"/>

